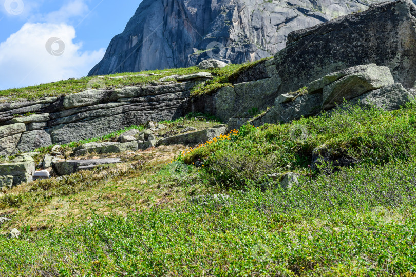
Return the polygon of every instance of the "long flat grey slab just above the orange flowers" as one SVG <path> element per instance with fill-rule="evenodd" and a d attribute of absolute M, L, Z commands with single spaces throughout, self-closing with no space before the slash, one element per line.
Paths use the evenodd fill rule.
<path fill-rule="evenodd" d="M 211 141 L 214 137 L 224 134 L 227 127 L 205 129 L 192 133 L 180 134 L 164 138 L 163 144 L 197 144 Z"/>

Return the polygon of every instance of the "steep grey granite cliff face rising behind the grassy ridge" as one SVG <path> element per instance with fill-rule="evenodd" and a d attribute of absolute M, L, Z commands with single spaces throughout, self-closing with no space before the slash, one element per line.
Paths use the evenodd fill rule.
<path fill-rule="evenodd" d="M 380 0 L 143 0 L 89 75 L 243 63 L 285 48 L 288 34 Z"/>

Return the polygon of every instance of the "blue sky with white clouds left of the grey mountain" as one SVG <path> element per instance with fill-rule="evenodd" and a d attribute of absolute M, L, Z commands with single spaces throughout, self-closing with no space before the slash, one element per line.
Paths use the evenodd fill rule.
<path fill-rule="evenodd" d="M 86 76 L 140 2 L 0 0 L 0 90 Z"/>

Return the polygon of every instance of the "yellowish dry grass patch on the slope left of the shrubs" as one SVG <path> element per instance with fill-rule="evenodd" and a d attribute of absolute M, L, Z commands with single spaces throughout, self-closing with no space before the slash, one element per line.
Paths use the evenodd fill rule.
<path fill-rule="evenodd" d="M 51 178 L 16 186 L 6 192 L 6 197 L 14 195 L 18 203 L 0 199 L 0 214 L 7 214 L 12 219 L 1 229 L 53 228 L 86 221 L 93 214 L 125 216 L 132 209 L 183 201 L 195 193 L 195 188 L 189 189 L 183 186 L 184 180 L 172 177 L 166 164 L 185 149 L 183 145 L 168 145 L 100 155 L 121 157 L 125 163 L 80 171 L 64 176 L 64 179 Z M 80 159 L 97 157 L 92 153 Z"/>

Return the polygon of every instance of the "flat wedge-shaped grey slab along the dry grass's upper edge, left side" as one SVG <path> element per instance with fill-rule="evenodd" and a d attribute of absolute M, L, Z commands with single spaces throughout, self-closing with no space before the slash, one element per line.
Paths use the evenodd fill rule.
<path fill-rule="evenodd" d="M 78 170 L 92 169 L 98 165 L 118 164 L 120 159 L 92 159 L 92 160 L 67 160 L 55 164 L 58 175 L 69 175 Z"/>

